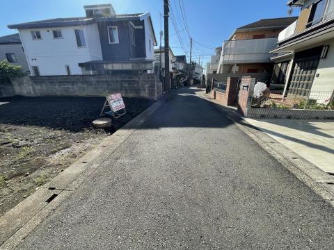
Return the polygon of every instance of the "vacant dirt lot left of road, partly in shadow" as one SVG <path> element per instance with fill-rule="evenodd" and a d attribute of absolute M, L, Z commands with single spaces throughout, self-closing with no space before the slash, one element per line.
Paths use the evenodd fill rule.
<path fill-rule="evenodd" d="M 115 128 L 95 129 L 102 97 L 0 98 L 0 216 L 92 149 L 152 101 L 124 98 Z"/>

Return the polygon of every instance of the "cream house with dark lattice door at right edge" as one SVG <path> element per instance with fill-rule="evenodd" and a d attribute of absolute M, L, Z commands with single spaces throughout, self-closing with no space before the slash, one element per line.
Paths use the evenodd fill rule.
<path fill-rule="evenodd" d="M 278 53 L 271 58 L 275 62 L 271 85 L 280 85 L 285 95 L 328 92 L 333 98 L 334 0 L 290 0 L 287 5 L 301 12 L 271 50 Z"/>

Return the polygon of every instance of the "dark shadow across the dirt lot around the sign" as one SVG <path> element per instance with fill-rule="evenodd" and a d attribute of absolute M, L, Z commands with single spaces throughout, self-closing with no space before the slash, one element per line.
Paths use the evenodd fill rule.
<path fill-rule="evenodd" d="M 127 115 L 113 121 L 120 128 L 152 104 L 148 99 L 123 98 Z M 72 132 L 92 128 L 100 117 L 105 97 L 8 97 L 0 98 L 0 124 L 41 126 Z"/>

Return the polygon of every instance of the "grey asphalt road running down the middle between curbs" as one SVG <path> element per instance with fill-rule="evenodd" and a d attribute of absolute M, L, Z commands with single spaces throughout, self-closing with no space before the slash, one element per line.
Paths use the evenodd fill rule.
<path fill-rule="evenodd" d="M 18 249 L 333 249 L 334 210 L 179 90 Z"/>

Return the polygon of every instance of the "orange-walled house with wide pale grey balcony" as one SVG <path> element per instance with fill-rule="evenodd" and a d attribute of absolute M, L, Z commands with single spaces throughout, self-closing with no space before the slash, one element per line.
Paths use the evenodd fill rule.
<path fill-rule="evenodd" d="M 270 60 L 273 54 L 269 51 L 276 46 L 280 31 L 296 19 L 297 17 L 261 19 L 237 28 L 223 42 L 217 72 L 236 76 L 262 73 L 266 75 L 263 81 L 269 81 L 273 69 L 273 62 Z M 210 71 L 214 71 L 214 68 L 211 67 Z"/>

